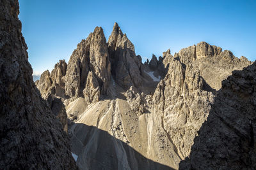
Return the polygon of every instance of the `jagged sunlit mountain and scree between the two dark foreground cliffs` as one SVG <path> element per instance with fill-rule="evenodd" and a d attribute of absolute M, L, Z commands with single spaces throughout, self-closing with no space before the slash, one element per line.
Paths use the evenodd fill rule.
<path fill-rule="evenodd" d="M 68 124 L 79 169 L 178 169 L 186 157 L 180 169 L 193 169 L 194 159 L 188 159 L 191 146 L 214 110 L 221 81 L 251 64 L 205 42 L 174 55 L 169 49 L 143 64 L 115 23 L 108 42 L 102 28 L 96 27 L 77 45 L 68 64 L 60 60 L 35 83 L 63 127 Z M 53 107 L 56 101 L 63 103 L 58 111 L 56 104 Z M 68 120 L 61 119 L 65 112 Z M 239 131 L 235 127 L 228 131 Z M 243 130 L 249 131 L 255 134 Z M 222 161 L 220 168 L 231 160 Z"/>

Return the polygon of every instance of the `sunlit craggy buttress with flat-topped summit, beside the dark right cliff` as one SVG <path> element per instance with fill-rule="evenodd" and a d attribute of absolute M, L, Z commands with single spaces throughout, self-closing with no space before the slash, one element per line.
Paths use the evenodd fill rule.
<path fill-rule="evenodd" d="M 205 42 L 184 48 L 174 57 L 170 50 L 163 55 L 168 73 L 154 93 L 154 107 L 183 159 L 189 155 L 193 139 L 209 115 L 221 80 L 251 62 Z"/>

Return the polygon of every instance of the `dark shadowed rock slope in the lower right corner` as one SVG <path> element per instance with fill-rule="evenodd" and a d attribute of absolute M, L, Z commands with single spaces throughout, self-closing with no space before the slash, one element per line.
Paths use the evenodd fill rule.
<path fill-rule="evenodd" d="M 255 169 L 256 64 L 222 81 L 207 121 L 179 169 Z"/>

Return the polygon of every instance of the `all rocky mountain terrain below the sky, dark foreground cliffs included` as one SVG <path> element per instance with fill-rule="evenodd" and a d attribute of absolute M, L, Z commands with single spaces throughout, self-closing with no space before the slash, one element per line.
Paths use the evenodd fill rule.
<path fill-rule="evenodd" d="M 34 83 L 0 2 L 0 169 L 256 168 L 255 62 L 200 42 L 143 64 L 115 23 Z"/>

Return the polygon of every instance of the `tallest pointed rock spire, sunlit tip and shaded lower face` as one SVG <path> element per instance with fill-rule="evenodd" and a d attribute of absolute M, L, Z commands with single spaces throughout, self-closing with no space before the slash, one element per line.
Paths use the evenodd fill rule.
<path fill-rule="evenodd" d="M 116 83 L 124 89 L 140 87 L 143 81 L 141 57 L 136 56 L 134 45 L 116 23 L 108 39 L 108 49 Z"/>

